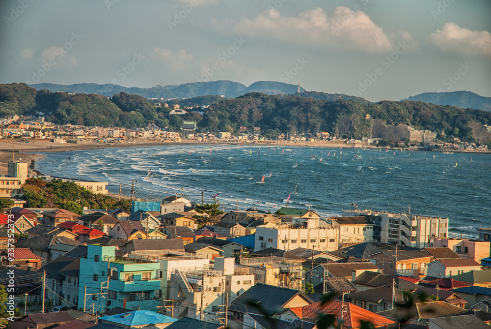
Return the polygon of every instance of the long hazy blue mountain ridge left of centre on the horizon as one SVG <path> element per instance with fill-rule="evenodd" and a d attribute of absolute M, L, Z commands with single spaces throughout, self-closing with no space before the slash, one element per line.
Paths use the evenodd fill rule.
<path fill-rule="evenodd" d="M 128 94 L 136 94 L 146 98 L 191 98 L 197 96 L 206 95 L 223 95 L 225 97 L 238 97 L 249 92 L 261 92 L 269 95 L 273 94 L 291 94 L 297 91 L 296 85 L 285 84 L 275 81 L 258 81 L 246 87 L 245 85 L 228 81 L 218 80 L 210 82 L 193 82 L 179 86 L 167 85 L 167 86 L 155 86 L 152 88 L 127 88 L 123 86 L 105 84 L 98 85 L 94 83 L 84 83 L 75 85 L 56 85 L 50 83 L 33 84 L 29 87 L 36 90 L 50 90 L 50 91 L 66 91 L 66 92 L 80 92 L 80 93 L 96 93 L 103 96 L 112 96 L 115 93 L 126 92 Z M 300 91 L 305 91 L 300 88 Z"/>

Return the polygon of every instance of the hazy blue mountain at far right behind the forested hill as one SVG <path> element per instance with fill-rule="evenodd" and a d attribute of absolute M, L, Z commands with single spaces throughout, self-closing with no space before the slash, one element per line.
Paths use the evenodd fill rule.
<path fill-rule="evenodd" d="M 491 111 L 491 97 L 484 97 L 471 91 L 424 92 L 410 96 L 405 100 L 414 100 L 436 105 L 452 105 L 462 109 Z"/>

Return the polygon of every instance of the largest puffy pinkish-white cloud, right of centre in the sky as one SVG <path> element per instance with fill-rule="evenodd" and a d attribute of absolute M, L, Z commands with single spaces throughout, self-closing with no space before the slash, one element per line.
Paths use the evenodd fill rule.
<path fill-rule="evenodd" d="M 217 26 L 217 22 L 213 23 Z M 252 19 L 242 17 L 233 30 L 241 35 L 265 37 L 284 42 L 307 45 L 333 46 L 363 50 L 368 53 L 386 53 L 394 49 L 394 34 L 387 35 L 363 11 L 337 7 L 328 17 L 324 9 L 306 10 L 297 16 L 282 16 L 269 9 Z M 404 39 L 411 39 L 402 32 Z"/>

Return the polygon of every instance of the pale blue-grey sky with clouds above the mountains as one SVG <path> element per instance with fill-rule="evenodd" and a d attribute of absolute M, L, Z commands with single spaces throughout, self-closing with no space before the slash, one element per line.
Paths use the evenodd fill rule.
<path fill-rule="evenodd" d="M 491 96 L 490 0 L 2 0 L 0 83 Z"/>

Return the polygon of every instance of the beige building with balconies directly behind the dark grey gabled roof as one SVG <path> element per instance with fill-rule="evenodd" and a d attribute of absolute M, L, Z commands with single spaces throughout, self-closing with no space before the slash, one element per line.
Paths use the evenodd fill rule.
<path fill-rule="evenodd" d="M 305 271 L 301 262 L 302 259 L 295 260 L 275 256 L 241 258 L 236 271 L 254 274 L 255 283 L 302 289 Z"/>

